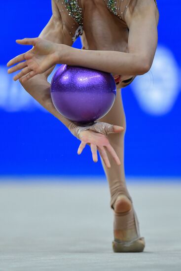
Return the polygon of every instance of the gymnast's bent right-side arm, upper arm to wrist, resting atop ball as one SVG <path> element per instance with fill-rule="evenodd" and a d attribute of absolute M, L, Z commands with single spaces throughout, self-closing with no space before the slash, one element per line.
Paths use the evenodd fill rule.
<path fill-rule="evenodd" d="M 154 1 L 138 1 L 131 19 L 128 38 L 128 53 L 106 50 L 80 50 L 57 44 L 57 63 L 99 69 L 121 75 L 146 73 L 153 62 L 157 47 L 158 10 Z"/>

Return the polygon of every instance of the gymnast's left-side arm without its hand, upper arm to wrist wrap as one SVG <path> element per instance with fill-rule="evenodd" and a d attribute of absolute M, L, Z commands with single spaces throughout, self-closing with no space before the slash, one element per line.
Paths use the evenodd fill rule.
<path fill-rule="evenodd" d="M 62 19 L 54 0 L 52 0 L 52 16 L 45 28 L 39 34 L 39 37 L 55 43 L 67 44 L 69 46 L 72 45 L 72 38 L 63 33 Z M 68 127 L 71 122 L 56 110 L 50 96 L 50 83 L 47 81 L 47 78 L 54 68 L 55 66 L 49 68 L 44 73 L 36 74 L 25 82 L 21 82 L 22 78 L 19 81 L 24 89 L 37 102 Z"/>

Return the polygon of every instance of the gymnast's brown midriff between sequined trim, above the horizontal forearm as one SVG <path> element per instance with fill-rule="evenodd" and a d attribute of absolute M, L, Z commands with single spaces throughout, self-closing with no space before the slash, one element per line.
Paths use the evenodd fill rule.
<path fill-rule="evenodd" d="M 84 18 L 81 39 L 83 42 L 86 37 L 86 49 L 127 52 L 128 27 L 109 11 L 103 0 L 88 1 L 88 4 L 86 2 Z"/>

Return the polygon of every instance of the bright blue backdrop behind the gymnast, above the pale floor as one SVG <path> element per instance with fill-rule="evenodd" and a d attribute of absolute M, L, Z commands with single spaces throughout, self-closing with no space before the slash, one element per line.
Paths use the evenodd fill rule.
<path fill-rule="evenodd" d="M 171 5 L 170 0 L 158 0 L 158 7 L 159 46 L 171 52 L 174 59 L 175 77 L 169 79 L 169 89 L 177 78 L 173 87 L 176 98 L 168 110 L 156 113 L 146 110 L 146 105 L 138 101 L 135 90 L 139 91 L 140 81 L 134 83 L 135 87 L 122 90 L 127 119 L 125 171 L 128 176 L 181 176 L 181 2 L 174 1 Z M 29 50 L 15 40 L 38 36 L 50 17 L 50 0 L 0 3 L 0 175 L 103 175 L 100 159 L 96 164 L 92 161 L 89 146 L 78 156 L 79 140 L 25 94 L 20 83 L 12 80 L 14 74 L 5 72 L 10 59 Z M 80 40 L 73 46 L 81 48 Z M 148 74 L 154 81 L 154 70 Z M 164 100 L 163 89 L 160 101 Z M 158 103 L 158 109 L 159 106 Z"/>

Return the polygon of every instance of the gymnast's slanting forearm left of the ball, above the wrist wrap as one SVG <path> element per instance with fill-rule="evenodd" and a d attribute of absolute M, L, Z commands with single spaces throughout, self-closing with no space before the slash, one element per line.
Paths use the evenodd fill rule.
<path fill-rule="evenodd" d="M 62 116 L 53 105 L 50 95 L 50 83 L 44 74 L 37 74 L 26 82 L 21 82 L 24 89 L 47 111 L 59 119 L 66 127 L 69 127 L 71 121 Z"/>

